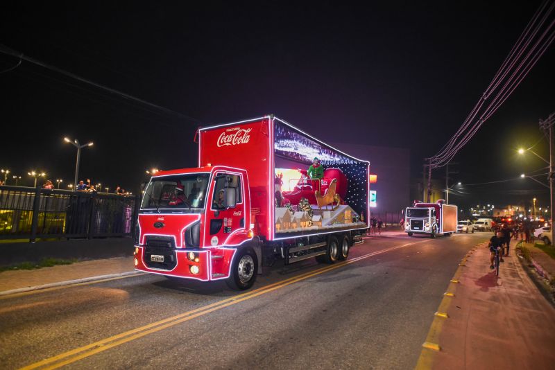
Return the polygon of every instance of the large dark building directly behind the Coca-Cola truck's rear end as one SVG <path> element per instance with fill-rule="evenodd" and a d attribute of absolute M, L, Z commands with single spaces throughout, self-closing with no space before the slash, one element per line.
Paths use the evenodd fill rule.
<path fill-rule="evenodd" d="M 359 144 L 331 143 L 353 157 L 370 161 L 370 173 L 377 182 L 370 184 L 376 191 L 376 207 L 370 211 L 382 219 L 395 220 L 410 203 L 410 150 Z M 391 215 L 390 215 L 391 214 Z"/>

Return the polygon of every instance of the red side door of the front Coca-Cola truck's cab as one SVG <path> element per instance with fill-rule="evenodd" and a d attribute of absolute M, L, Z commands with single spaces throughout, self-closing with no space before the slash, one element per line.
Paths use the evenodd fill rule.
<path fill-rule="evenodd" d="M 235 193 L 235 205 L 226 206 L 226 189 Z M 235 231 L 245 229 L 244 182 L 235 173 L 218 172 L 214 176 L 211 204 L 208 209 L 208 224 L 205 232 L 207 246 L 221 246 Z"/>

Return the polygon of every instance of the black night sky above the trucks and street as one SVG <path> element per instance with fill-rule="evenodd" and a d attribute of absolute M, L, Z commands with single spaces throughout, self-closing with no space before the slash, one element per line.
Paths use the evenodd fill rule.
<path fill-rule="evenodd" d="M 422 158 L 458 129 L 540 1 L 91 4 L 4 4 L 0 43 L 194 119 L 23 62 L 0 73 L 0 167 L 24 184 L 33 169 L 73 181 L 69 136 L 94 141 L 82 152 L 81 179 L 137 191 L 148 168 L 196 166 L 198 125 L 269 113 L 324 141 L 410 148 L 421 177 Z M 15 64 L 0 55 L 0 70 Z M 515 149 L 536 143 L 538 119 L 555 111 L 554 65 L 551 46 L 455 157 L 454 181 L 543 166 Z M 544 140 L 534 150 L 548 157 L 547 148 Z M 530 180 L 470 189 L 463 206 L 549 200 Z"/>

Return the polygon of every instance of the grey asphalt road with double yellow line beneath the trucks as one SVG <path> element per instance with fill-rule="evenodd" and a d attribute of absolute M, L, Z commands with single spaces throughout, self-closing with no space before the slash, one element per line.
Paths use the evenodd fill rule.
<path fill-rule="evenodd" d="M 0 299 L 1 368 L 413 369 L 489 236 L 367 240 L 348 263 L 266 268 L 248 292 L 147 274 Z"/>

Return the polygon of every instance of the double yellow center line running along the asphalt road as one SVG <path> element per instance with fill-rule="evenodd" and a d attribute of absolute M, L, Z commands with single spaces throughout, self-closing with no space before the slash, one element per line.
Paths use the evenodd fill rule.
<path fill-rule="evenodd" d="M 356 263 L 366 258 L 370 258 L 372 256 L 376 256 L 377 254 L 382 254 L 386 252 L 391 252 L 392 250 L 399 249 L 402 247 L 407 247 L 409 245 L 415 245 L 418 243 L 424 243 L 428 240 L 422 240 L 414 243 L 407 243 L 404 245 L 398 245 L 391 248 L 382 249 L 376 252 L 371 252 L 369 254 L 364 254 L 363 256 L 359 256 L 356 258 L 352 258 L 351 260 L 344 261 L 341 263 L 336 263 L 334 265 L 321 267 L 318 270 L 314 270 L 311 272 L 306 272 L 305 274 L 300 274 L 298 276 L 292 276 L 289 279 L 285 279 L 284 281 L 278 281 L 276 283 L 272 283 L 270 285 L 266 285 L 262 288 L 258 288 L 256 290 L 252 290 L 250 292 L 238 294 L 236 296 L 223 299 L 221 301 L 217 301 L 211 303 L 207 306 L 203 306 L 200 308 L 196 308 L 195 310 L 190 310 L 179 315 L 169 317 L 167 319 L 163 319 L 160 321 L 153 322 L 151 324 L 141 326 L 139 328 L 132 329 L 130 331 L 126 331 L 124 333 L 120 333 L 117 335 L 113 335 L 112 337 L 105 338 L 103 340 L 99 340 L 98 342 L 94 342 L 92 344 L 87 344 L 86 346 L 79 347 L 77 349 L 73 349 L 71 351 L 67 351 L 65 353 L 60 353 L 59 355 L 53 356 L 51 358 L 46 358 L 40 362 L 35 362 L 34 364 L 29 364 L 22 369 L 37 369 L 38 367 L 44 367 L 49 365 L 48 367 L 44 367 L 44 369 L 57 369 L 62 367 L 66 364 L 70 364 L 72 362 L 76 362 L 78 360 L 82 360 L 83 358 L 87 358 L 90 355 L 94 355 L 96 353 L 106 351 L 114 346 L 119 346 L 120 344 L 124 344 L 126 342 L 130 342 L 132 340 L 136 340 L 140 337 L 144 337 L 145 335 L 155 333 L 157 331 L 162 331 L 166 328 L 171 326 L 175 326 L 177 324 L 181 324 L 182 322 L 189 321 L 190 319 L 194 319 L 196 317 L 206 315 L 207 313 L 213 312 L 215 310 L 220 310 L 221 308 L 225 308 L 231 306 L 233 304 L 246 301 L 247 299 L 251 299 L 254 297 L 258 297 L 262 294 L 266 294 L 268 292 L 273 292 L 274 290 L 278 290 L 280 288 L 284 288 L 287 285 L 291 285 L 298 281 L 302 281 L 305 279 L 309 279 L 312 276 L 316 276 L 319 274 L 323 274 L 325 272 L 329 272 L 331 270 L 336 270 L 340 267 L 345 265 L 350 265 L 351 263 Z M 69 358 L 70 356 L 73 356 Z M 64 361 L 59 362 L 60 360 L 66 359 Z M 56 363 L 57 362 L 57 363 Z"/>

